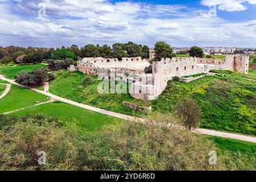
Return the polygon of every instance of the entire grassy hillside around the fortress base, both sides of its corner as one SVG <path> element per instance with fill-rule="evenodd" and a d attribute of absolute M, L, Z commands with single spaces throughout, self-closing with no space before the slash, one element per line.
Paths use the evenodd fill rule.
<path fill-rule="evenodd" d="M 256 72 L 251 68 L 249 75 L 217 72 L 221 76 L 207 76 L 189 83 L 169 81 L 159 98 L 149 102 L 134 100 L 129 94 L 100 94 L 97 86 L 101 81 L 92 77 L 93 84 L 84 86 L 84 75 L 79 72 L 56 72 L 50 92 L 83 104 L 141 117 L 142 114 L 122 106 L 122 101 L 151 105 L 153 111 L 170 113 L 181 98 L 191 96 L 198 101 L 203 113 L 201 127 L 256 135 Z"/>

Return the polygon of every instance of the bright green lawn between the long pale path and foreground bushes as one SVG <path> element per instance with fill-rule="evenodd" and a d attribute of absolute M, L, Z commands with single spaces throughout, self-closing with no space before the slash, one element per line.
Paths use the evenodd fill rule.
<path fill-rule="evenodd" d="M 121 121 L 121 119 L 118 118 L 110 117 L 108 115 L 96 113 L 61 102 L 53 102 L 36 107 L 31 107 L 29 109 L 20 110 L 12 114 L 44 114 L 48 117 L 57 118 L 60 122 L 76 121 L 77 125 L 81 126 L 86 131 L 93 131 L 96 129 L 100 129 L 104 125 L 109 125 L 113 122 Z"/>

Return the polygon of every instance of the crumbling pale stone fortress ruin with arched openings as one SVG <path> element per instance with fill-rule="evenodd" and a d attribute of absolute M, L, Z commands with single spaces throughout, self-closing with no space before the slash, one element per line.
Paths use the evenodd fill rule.
<path fill-rule="evenodd" d="M 144 73 L 150 63 L 141 57 L 105 59 L 87 57 L 78 61 L 77 68 L 86 75 L 105 74 L 116 81 L 130 83 L 130 95 L 144 101 L 155 100 L 166 89 L 167 82 L 175 76 L 183 77 L 208 73 L 210 70 L 230 70 L 248 74 L 249 56 L 227 55 L 224 60 L 197 57 L 162 59 L 152 63 L 152 73 Z M 115 70 L 114 75 L 111 70 Z"/>

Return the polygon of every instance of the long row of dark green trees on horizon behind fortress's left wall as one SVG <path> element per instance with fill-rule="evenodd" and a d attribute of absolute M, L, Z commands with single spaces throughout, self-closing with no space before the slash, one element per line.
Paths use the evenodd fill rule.
<path fill-rule="evenodd" d="M 148 46 L 142 46 L 133 42 L 129 43 L 115 43 L 112 47 L 104 45 L 94 46 L 88 44 L 84 47 L 72 45 L 71 47 L 57 47 L 57 48 L 39 48 L 39 47 L 16 47 L 7 46 L 0 47 L 0 64 L 10 63 L 24 63 L 35 64 L 42 63 L 48 59 L 64 60 L 71 58 L 74 61 L 80 60 L 81 57 L 105 57 L 118 58 L 121 57 L 137 57 L 141 56 L 143 59 L 149 57 Z"/>

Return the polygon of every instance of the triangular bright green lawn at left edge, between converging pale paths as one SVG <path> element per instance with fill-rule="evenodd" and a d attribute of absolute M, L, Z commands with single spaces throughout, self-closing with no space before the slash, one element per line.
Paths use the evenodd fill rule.
<path fill-rule="evenodd" d="M 13 111 L 22 107 L 35 105 L 39 102 L 48 101 L 49 98 L 43 94 L 12 85 L 7 96 L 0 100 L 0 113 Z"/>

